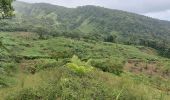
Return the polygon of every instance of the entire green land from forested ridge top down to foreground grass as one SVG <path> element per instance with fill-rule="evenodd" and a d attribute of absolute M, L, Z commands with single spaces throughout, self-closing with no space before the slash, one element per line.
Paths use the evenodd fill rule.
<path fill-rule="evenodd" d="M 0 100 L 169 100 L 170 22 L 15 2 L 0 20 Z"/>

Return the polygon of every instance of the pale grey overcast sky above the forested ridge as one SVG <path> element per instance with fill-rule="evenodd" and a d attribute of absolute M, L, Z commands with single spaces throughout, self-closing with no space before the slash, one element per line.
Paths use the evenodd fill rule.
<path fill-rule="evenodd" d="M 31 3 L 45 2 L 65 7 L 97 5 L 134 12 L 170 21 L 170 0 L 18 0 Z"/>

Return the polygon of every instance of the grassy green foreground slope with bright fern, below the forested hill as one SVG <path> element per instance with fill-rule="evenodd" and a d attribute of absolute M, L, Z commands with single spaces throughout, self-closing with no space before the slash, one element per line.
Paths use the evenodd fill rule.
<path fill-rule="evenodd" d="M 170 60 L 143 52 L 141 46 L 40 40 L 26 32 L 0 36 L 10 51 L 1 53 L 1 99 L 170 98 Z"/>

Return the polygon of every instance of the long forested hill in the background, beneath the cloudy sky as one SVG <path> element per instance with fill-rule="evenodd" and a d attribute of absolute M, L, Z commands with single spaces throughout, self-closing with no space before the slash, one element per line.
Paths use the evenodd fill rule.
<path fill-rule="evenodd" d="M 33 31 L 85 37 L 106 42 L 145 45 L 162 49 L 170 43 L 170 22 L 97 6 L 65 8 L 46 3 L 15 2 L 16 18 L 1 22 L 2 31 Z"/>

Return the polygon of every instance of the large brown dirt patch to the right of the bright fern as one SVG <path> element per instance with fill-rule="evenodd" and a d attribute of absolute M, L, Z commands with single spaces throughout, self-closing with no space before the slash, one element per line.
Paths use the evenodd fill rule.
<path fill-rule="evenodd" d="M 170 76 L 165 75 L 161 70 L 161 64 L 157 61 L 142 61 L 140 59 L 129 59 L 125 64 L 124 69 L 126 71 L 135 74 L 146 74 L 149 76 L 162 76 L 169 78 Z"/>

